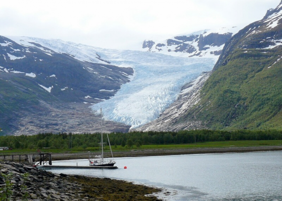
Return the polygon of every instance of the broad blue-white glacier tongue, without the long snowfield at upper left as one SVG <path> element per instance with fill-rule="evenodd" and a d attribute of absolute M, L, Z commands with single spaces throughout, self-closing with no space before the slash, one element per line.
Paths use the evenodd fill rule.
<path fill-rule="evenodd" d="M 101 53 L 101 52 L 100 52 Z M 112 98 L 91 106 L 104 118 L 137 128 L 159 117 L 178 97 L 181 87 L 212 70 L 215 58 L 184 58 L 140 52 L 103 50 L 111 64 L 132 67 L 135 76 Z"/>

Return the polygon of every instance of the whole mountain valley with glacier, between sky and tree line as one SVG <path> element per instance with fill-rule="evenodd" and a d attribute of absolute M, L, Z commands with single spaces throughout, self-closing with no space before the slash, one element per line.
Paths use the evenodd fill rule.
<path fill-rule="evenodd" d="M 282 4 L 142 51 L 0 36 L 1 135 L 281 129 Z"/>

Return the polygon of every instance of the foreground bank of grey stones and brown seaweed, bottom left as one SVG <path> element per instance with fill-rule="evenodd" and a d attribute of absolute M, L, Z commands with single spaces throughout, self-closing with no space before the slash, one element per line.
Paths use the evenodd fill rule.
<path fill-rule="evenodd" d="M 161 189 L 109 178 L 58 175 L 24 163 L 0 161 L 0 173 L 4 175 L 12 173 L 10 179 L 13 184 L 10 197 L 12 200 L 24 200 L 26 193 L 28 201 L 160 201 L 151 194 L 160 192 Z M 26 181 L 24 173 L 28 173 Z M 21 185 L 26 186 L 22 192 Z M 0 188 L 5 186 L 5 178 L 1 175 Z M 2 196 L 5 192 L 2 191 L 0 194 Z"/>

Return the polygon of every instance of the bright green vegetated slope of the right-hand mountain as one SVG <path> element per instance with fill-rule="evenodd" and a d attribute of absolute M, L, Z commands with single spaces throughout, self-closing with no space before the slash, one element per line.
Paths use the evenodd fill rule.
<path fill-rule="evenodd" d="M 195 110 L 207 127 L 282 129 L 282 51 L 264 52 L 237 49 L 212 73 Z"/>

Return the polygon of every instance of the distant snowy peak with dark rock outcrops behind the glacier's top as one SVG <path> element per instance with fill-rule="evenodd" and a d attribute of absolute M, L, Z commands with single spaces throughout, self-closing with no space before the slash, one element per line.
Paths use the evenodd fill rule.
<path fill-rule="evenodd" d="M 145 40 L 143 51 L 173 56 L 218 58 L 224 44 L 237 32 L 238 27 L 205 29 L 174 36 L 165 41 Z"/>

